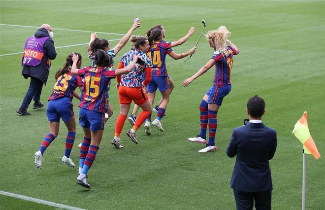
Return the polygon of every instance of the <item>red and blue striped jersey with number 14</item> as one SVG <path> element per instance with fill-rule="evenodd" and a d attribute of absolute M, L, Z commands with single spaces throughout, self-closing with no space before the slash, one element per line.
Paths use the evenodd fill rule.
<path fill-rule="evenodd" d="M 151 49 L 147 53 L 152 63 L 153 76 L 168 76 L 165 59 L 166 54 L 171 51 L 171 42 L 153 42 Z"/>

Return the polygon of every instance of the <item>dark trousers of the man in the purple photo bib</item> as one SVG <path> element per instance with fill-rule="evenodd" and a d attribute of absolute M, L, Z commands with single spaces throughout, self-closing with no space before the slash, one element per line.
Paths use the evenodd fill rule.
<path fill-rule="evenodd" d="M 39 102 L 42 93 L 43 82 L 37 78 L 31 77 L 30 87 L 27 90 L 24 101 L 21 105 L 22 108 L 27 109 L 31 104 L 32 99 L 34 102 Z"/>

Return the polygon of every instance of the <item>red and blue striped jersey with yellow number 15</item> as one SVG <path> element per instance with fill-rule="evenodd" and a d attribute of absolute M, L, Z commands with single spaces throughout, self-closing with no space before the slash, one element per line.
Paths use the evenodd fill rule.
<path fill-rule="evenodd" d="M 78 70 L 84 80 L 79 107 L 105 113 L 108 105 L 107 84 L 115 78 L 115 70 L 105 67 L 85 67 Z"/>

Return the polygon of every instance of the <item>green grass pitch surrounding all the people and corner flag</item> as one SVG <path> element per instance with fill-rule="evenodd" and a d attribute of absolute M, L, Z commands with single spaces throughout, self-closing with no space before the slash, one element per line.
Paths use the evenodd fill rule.
<path fill-rule="evenodd" d="M 301 208 L 302 145 L 291 132 L 293 125 L 308 111 L 310 133 L 321 158 L 307 156 L 306 208 L 324 209 L 325 189 L 325 2 L 323 0 L 0 0 L 0 24 L 40 26 L 93 32 L 126 33 L 139 17 L 142 35 L 155 24 L 162 24 L 167 41 L 196 32 L 177 53 L 189 50 L 202 30 L 221 25 L 232 33 L 229 39 L 238 46 L 231 72 L 232 90 L 218 112 L 216 144 L 213 153 L 199 154 L 202 145 L 188 142 L 199 132 L 198 105 L 211 86 L 214 68 L 189 87 L 181 82 L 193 75 L 213 54 L 202 37 L 195 55 L 186 63 L 167 58 L 175 90 L 162 120 L 165 132 L 154 127 L 146 136 L 138 132 L 135 145 L 122 133 L 124 149 L 110 144 L 119 113 L 116 80 L 109 92 L 114 115 L 105 126 L 96 161 L 85 190 L 75 184 L 77 168 L 61 163 L 66 128 L 61 125 L 58 138 L 44 153 L 42 170 L 34 167 L 33 154 L 48 134 L 46 107 L 32 110 L 31 116 L 19 116 L 29 79 L 21 75 L 22 54 L 0 56 L 0 190 L 83 209 L 235 209 L 229 181 L 234 158 L 226 148 L 232 129 L 243 124 L 247 100 L 259 95 L 266 102 L 263 122 L 277 131 L 278 147 L 270 161 L 276 210 Z M 0 55 L 23 51 L 26 39 L 36 28 L 0 25 Z M 53 30 L 56 47 L 87 43 L 90 33 Z M 116 39 L 120 35 L 99 34 Z M 112 41 L 115 46 L 117 41 Z M 54 85 L 54 73 L 72 51 L 80 52 L 83 66 L 88 65 L 87 45 L 57 49 L 49 80 L 41 101 L 47 104 Z M 130 48 L 130 42 L 115 59 Z M 158 97 L 158 100 L 160 97 Z M 73 100 L 78 117 L 78 101 Z M 71 158 L 78 164 L 77 135 Z M 0 209 L 54 209 L 40 204 L 0 196 Z"/>

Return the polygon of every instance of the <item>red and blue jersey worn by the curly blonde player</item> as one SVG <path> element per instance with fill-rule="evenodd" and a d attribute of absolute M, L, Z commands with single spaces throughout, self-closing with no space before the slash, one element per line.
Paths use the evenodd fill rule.
<path fill-rule="evenodd" d="M 213 84 L 215 87 L 224 87 L 231 84 L 230 71 L 233 62 L 233 55 L 237 54 L 238 52 L 230 46 L 227 46 L 226 53 L 220 53 L 219 51 L 216 51 L 213 54 L 211 59 L 216 61 L 216 73 L 213 79 Z"/>

